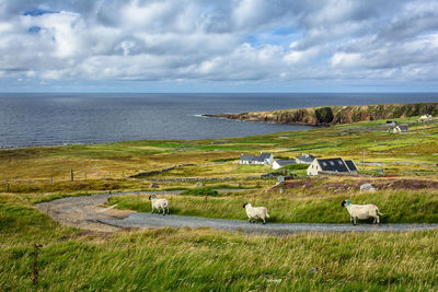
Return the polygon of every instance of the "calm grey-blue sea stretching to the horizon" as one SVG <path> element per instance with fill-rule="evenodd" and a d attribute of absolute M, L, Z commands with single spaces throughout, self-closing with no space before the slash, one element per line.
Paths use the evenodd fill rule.
<path fill-rule="evenodd" d="M 322 105 L 438 102 L 408 94 L 0 94 L 0 147 L 243 137 L 310 127 L 204 118 Z"/>

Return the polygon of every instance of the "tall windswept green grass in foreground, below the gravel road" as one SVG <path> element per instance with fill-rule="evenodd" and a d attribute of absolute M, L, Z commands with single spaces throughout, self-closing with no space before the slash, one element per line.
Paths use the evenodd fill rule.
<path fill-rule="evenodd" d="M 1 291 L 431 291 L 438 232 L 79 232 L 0 196 Z M 33 243 L 43 244 L 32 285 Z M 312 268 L 318 267 L 314 272 Z"/>

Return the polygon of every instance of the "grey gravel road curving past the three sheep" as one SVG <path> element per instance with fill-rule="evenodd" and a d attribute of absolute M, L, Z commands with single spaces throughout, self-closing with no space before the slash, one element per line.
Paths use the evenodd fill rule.
<path fill-rule="evenodd" d="M 181 191 L 154 191 L 158 195 L 177 195 Z M 48 213 L 55 221 L 64 225 L 96 231 L 115 231 L 120 227 L 201 227 L 216 230 L 241 231 L 244 233 L 267 233 L 286 235 L 302 232 L 407 232 L 438 229 L 438 224 L 316 224 L 289 223 L 269 224 L 249 223 L 246 220 L 207 219 L 197 217 L 160 215 L 137 213 L 134 211 L 110 209 L 103 205 L 112 196 L 128 194 L 151 194 L 150 191 L 100 194 L 83 197 L 69 197 L 49 202 L 38 203 L 36 208 Z M 101 206 L 101 207 L 100 207 Z M 242 218 L 244 212 L 242 212 Z"/>

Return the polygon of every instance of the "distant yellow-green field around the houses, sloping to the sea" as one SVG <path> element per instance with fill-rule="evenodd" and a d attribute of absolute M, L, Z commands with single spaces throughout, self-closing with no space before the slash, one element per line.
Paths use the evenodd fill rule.
<path fill-rule="evenodd" d="M 218 139 L 132 141 L 1 150 L 0 190 L 7 191 L 8 184 L 14 191 L 145 189 L 149 183 L 128 177 L 185 163 L 197 166 L 176 168 L 159 176 L 233 176 L 244 183 L 244 177 L 258 176 L 272 168 L 239 166 L 235 161 L 229 160 L 239 157 L 241 153 L 260 151 L 273 152 L 281 157 L 295 157 L 301 153 L 324 157 L 341 155 L 355 160 L 361 171 L 370 173 L 436 175 L 438 124 L 423 125 L 415 120 L 399 119 L 410 124 L 410 131 L 402 135 L 388 133 L 379 126 L 384 120 L 379 120 L 230 138 L 227 143 L 217 143 Z M 366 163 L 362 163 L 362 157 Z M 74 182 L 70 182 L 71 170 Z M 174 187 L 174 184 L 161 185 L 163 188 Z"/>

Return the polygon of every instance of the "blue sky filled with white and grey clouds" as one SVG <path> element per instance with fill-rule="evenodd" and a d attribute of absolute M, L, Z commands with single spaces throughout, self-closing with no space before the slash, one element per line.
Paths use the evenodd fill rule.
<path fill-rule="evenodd" d="M 438 92 L 438 1 L 0 0 L 0 92 Z"/>

